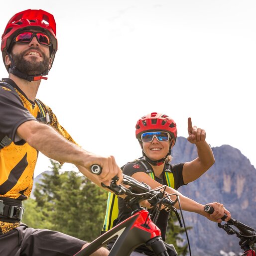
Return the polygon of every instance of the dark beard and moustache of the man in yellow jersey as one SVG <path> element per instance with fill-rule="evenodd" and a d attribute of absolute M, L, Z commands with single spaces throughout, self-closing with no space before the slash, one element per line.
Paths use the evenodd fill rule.
<path fill-rule="evenodd" d="M 24 53 L 27 52 L 27 50 L 19 54 L 11 54 L 12 60 L 16 68 L 20 72 L 29 76 L 41 75 L 44 72 L 48 72 L 48 65 L 49 65 L 50 58 L 46 57 L 45 54 L 36 47 L 29 49 L 29 51 L 33 51 L 33 50 L 39 51 L 43 60 L 38 61 L 37 57 L 36 56 L 33 57 L 33 55 L 31 55 L 29 61 L 25 60 L 23 56 L 24 56 Z"/>

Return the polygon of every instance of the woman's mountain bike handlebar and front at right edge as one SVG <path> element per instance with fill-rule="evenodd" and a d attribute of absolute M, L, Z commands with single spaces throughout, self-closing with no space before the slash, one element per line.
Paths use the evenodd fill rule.
<path fill-rule="evenodd" d="M 210 205 L 206 205 L 204 210 L 209 214 L 214 212 L 214 208 Z M 222 220 L 227 218 L 225 215 Z M 224 229 L 228 235 L 237 235 L 240 239 L 239 245 L 244 251 L 241 256 L 256 256 L 256 230 L 233 218 L 227 221 L 224 225 L 218 223 L 218 227 Z"/>

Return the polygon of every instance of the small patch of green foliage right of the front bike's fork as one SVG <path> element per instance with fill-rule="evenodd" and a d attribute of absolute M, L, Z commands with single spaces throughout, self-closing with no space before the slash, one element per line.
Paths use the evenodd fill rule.
<path fill-rule="evenodd" d="M 191 227 L 187 227 L 190 230 Z M 184 228 L 180 228 L 178 219 L 175 214 L 172 214 L 168 221 L 168 228 L 166 233 L 166 243 L 174 245 L 178 255 L 186 256 L 188 253 L 188 245 L 184 244 L 184 239 L 180 237 L 185 232 Z"/>

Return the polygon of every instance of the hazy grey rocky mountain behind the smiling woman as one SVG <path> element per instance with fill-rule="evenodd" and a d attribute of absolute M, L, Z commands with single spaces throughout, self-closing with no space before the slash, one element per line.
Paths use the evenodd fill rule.
<path fill-rule="evenodd" d="M 256 229 L 256 169 L 240 150 L 222 145 L 212 148 L 215 164 L 199 179 L 179 191 L 202 204 L 220 202 L 232 218 Z M 178 137 L 172 163 L 187 162 L 197 157 L 197 149 L 184 137 Z M 236 235 L 229 236 L 216 223 L 205 217 L 183 212 L 193 256 L 220 256 L 220 251 L 241 252 Z M 224 223 L 223 223 L 224 224 Z M 187 242 L 185 238 L 185 242 Z"/>

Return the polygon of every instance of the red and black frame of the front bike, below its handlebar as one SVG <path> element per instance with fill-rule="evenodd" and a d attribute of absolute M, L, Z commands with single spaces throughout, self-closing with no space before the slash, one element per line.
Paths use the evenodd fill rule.
<path fill-rule="evenodd" d="M 159 228 L 152 222 L 148 211 L 143 208 L 94 240 L 75 256 L 90 256 L 115 238 L 117 240 L 109 256 L 129 256 L 135 248 L 143 244 L 151 247 L 157 256 L 177 256 L 174 246 L 163 242 Z"/>

